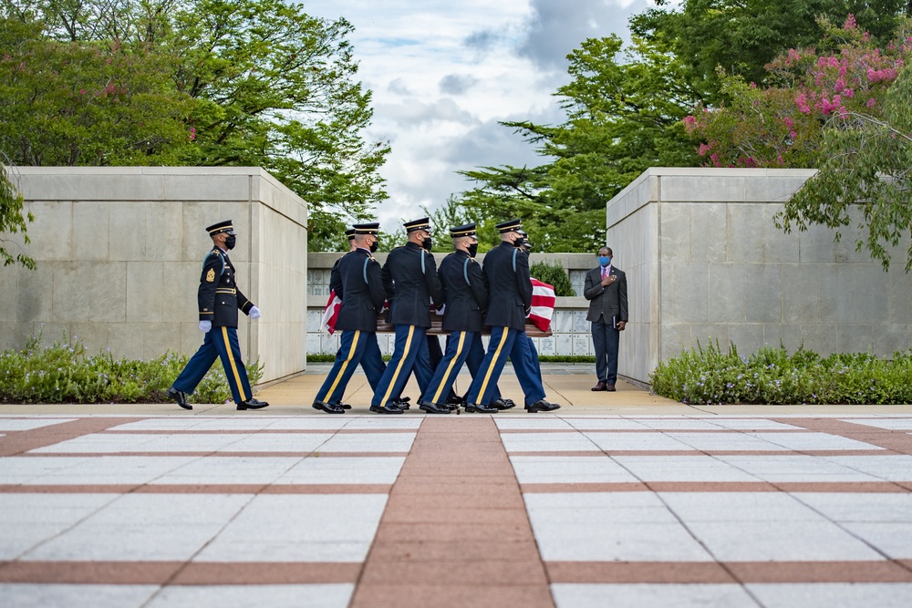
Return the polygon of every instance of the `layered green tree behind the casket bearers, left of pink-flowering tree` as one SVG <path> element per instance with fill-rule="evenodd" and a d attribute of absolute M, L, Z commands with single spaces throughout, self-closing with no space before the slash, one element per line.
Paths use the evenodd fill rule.
<path fill-rule="evenodd" d="M 523 217 L 539 251 L 590 252 L 605 242 L 607 201 L 630 181 L 651 166 L 697 163 L 696 139 L 680 121 L 699 98 L 658 42 L 636 39 L 624 53 L 618 36 L 590 38 L 568 59 L 572 80 L 555 94 L 565 123 L 504 123 L 554 160 L 461 171 L 482 184 L 462 203 L 489 220 Z"/>

